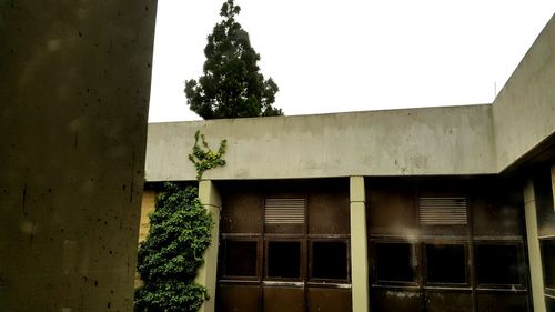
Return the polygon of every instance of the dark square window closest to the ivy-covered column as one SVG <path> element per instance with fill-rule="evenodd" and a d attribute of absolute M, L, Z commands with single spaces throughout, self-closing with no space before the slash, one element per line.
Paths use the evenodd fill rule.
<path fill-rule="evenodd" d="M 255 276 L 256 275 L 256 242 L 226 241 L 224 246 L 224 275 Z"/>

